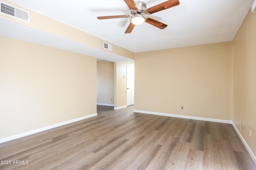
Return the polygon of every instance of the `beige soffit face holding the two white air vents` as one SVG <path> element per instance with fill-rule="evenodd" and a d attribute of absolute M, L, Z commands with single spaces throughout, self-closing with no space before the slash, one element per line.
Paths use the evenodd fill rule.
<path fill-rule="evenodd" d="M 3 0 L 3 1 L 8 4 L 17 6 L 21 9 L 24 9 L 24 10 L 27 10 L 30 12 L 30 23 L 16 20 L 16 19 L 10 18 L 8 16 L 0 15 L 0 18 L 2 18 L 4 20 L 9 20 L 9 21 L 12 21 L 15 23 L 19 23 L 19 24 L 25 25 L 27 27 L 31 27 L 31 28 L 34 28 L 34 29 L 37 29 L 40 31 L 44 31 L 46 33 L 50 33 L 53 35 L 57 35 L 59 37 L 70 39 L 70 40 L 88 45 L 90 47 L 94 47 L 94 48 L 97 48 L 97 49 L 100 49 L 103 51 L 107 51 L 109 53 L 113 53 L 113 54 L 120 55 L 120 56 L 134 60 L 134 53 L 129 50 L 126 50 L 122 47 L 119 47 L 117 45 L 110 43 L 110 44 L 112 44 L 112 51 L 109 51 L 109 50 L 103 48 L 103 41 L 106 43 L 109 43 L 106 40 L 103 40 L 103 39 L 100 39 L 93 35 L 90 35 L 88 33 L 85 33 L 79 29 L 75 29 L 74 27 L 71 27 L 64 23 L 56 21 L 52 18 L 48 18 L 42 14 L 39 14 L 37 12 L 34 12 L 32 10 L 29 10 L 27 8 L 24 8 L 22 6 L 14 4 L 8 0 Z"/>

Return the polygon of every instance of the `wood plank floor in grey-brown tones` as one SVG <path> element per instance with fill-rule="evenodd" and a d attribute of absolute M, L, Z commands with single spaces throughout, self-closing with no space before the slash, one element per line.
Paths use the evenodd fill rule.
<path fill-rule="evenodd" d="M 98 116 L 0 144 L 1 163 L 11 161 L 0 169 L 256 170 L 230 124 L 134 113 L 133 106 L 97 109 Z"/>

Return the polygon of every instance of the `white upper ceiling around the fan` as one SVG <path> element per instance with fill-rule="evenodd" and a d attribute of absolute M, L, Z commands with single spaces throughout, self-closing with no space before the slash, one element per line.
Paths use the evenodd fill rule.
<path fill-rule="evenodd" d="M 98 20 L 97 16 L 130 15 L 124 0 L 10 0 L 90 33 L 134 53 L 231 41 L 254 0 L 180 0 L 180 5 L 150 15 L 168 25 L 148 23 L 124 31 L 129 18 Z M 147 8 L 166 0 L 144 0 Z M 50 26 L 50 25 L 49 25 Z"/>

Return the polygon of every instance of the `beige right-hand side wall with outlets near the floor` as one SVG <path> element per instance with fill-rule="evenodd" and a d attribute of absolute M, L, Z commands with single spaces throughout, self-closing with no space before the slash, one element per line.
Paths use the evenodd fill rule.
<path fill-rule="evenodd" d="M 232 110 L 234 124 L 256 155 L 256 12 L 248 12 L 233 40 Z"/>

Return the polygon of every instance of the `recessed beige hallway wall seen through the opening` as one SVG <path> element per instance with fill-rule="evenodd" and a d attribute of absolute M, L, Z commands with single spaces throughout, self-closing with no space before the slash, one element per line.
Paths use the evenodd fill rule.
<path fill-rule="evenodd" d="M 97 61 L 97 103 L 114 105 L 114 63 Z"/>

